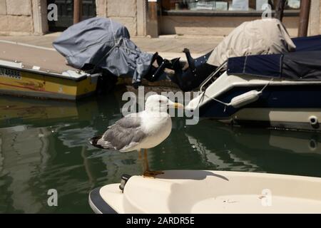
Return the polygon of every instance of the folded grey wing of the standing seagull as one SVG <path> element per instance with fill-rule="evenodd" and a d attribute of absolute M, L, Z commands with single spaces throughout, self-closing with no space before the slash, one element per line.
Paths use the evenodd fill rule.
<path fill-rule="evenodd" d="M 111 125 L 97 143 L 106 149 L 131 151 L 145 137 L 141 130 L 141 117 L 134 113 Z"/>

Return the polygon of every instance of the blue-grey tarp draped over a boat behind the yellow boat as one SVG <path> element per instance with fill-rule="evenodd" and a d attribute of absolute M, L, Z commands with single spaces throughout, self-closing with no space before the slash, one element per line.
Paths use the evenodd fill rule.
<path fill-rule="evenodd" d="M 125 26 L 106 18 L 95 17 L 69 27 L 53 46 L 74 68 L 90 64 L 115 76 L 131 76 L 133 83 L 141 82 L 153 61 L 153 54 L 142 52 L 130 40 Z"/>

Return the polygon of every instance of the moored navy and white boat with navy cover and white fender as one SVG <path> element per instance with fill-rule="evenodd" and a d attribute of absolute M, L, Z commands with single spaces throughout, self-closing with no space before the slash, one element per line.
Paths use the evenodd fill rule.
<path fill-rule="evenodd" d="M 321 36 L 293 41 L 295 52 L 228 58 L 188 110 L 238 125 L 321 130 Z"/>

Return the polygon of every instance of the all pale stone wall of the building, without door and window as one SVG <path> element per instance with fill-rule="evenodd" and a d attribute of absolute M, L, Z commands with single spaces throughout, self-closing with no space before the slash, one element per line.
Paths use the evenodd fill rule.
<path fill-rule="evenodd" d="M 124 24 L 131 36 L 147 34 L 147 0 L 96 0 L 97 16 Z M 312 0 L 309 35 L 321 33 L 321 4 Z M 0 35 L 44 34 L 48 31 L 46 0 L 0 0 Z M 161 16 L 161 34 L 225 36 L 252 17 Z M 297 35 L 297 17 L 285 17 L 291 36 Z"/>

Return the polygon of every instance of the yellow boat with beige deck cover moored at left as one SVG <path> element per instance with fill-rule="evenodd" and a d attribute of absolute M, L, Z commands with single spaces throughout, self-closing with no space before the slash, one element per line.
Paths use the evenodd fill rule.
<path fill-rule="evenodd" d="M 66 65 L 53 48 L 0 41 L 0 93 L 76 100 L 95 93 L 100 74 Z"/>

